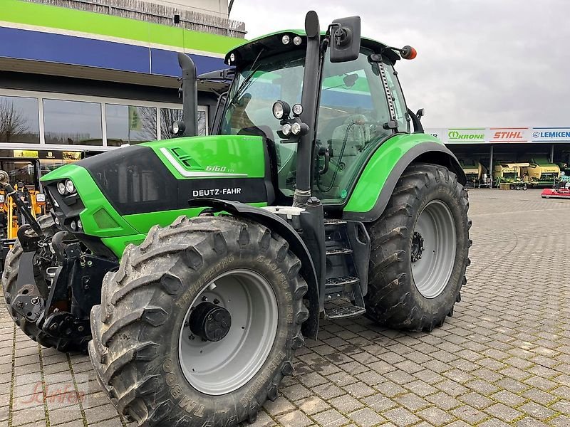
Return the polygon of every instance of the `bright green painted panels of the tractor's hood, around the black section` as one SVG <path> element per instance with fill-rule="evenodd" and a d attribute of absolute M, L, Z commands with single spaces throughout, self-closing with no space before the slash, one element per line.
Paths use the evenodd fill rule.
<path fill-rule="evenodd" d="M 185 137 L 146 142 L 176 179 L 211 179 L 218 176 L 184 176 L 163 153 L 169 152 L 178 167 L 187 172 L 201 174 L 219 172 L 240 174 L 249 178 L 265 176 L 265 150 L 261 137 L 245 135 L 221 135 L 207 137 Z M 125 150 L 125 149 L 123 149 Z M 124 151 L 123 151 L 124 152 Z M 114 152 L 101 155 L 112 155 Z M 119 151 L 116 152 L 119 154 Z M 219 176 L 225 177 L 225 176 Z M 66 164 L 42 176 L 43 184 L 71 179 L 75 184 L 85 209 L 80 214 L 83 231 L 101 238 L 108 248 L 119 258 L 125 247 L 141 243 L 152 226 L 167 226 L 181 215 L 197 216 L 203 208 L 175 209 L 147 214 L 120 216 L 113 205 L 105 198 L 81 161 Z M 252 206 L 266 206 L 266 202 L 252 203 Z"/>

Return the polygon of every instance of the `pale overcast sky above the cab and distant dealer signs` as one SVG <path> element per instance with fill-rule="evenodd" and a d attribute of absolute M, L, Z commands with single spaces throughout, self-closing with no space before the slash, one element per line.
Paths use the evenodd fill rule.
<path fill-rule="evenodd" d="M 363 36 L 418 51 L 396 69 L 424 127 L 570 126 L 570 1 L 235 0 L 230 18 L 253 38 L 309 9 L 321 29 L 358 15 Z"/>

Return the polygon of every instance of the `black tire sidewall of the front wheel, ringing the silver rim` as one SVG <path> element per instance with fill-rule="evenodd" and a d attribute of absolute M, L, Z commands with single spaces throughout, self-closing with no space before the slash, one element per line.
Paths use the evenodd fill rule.
<path fill-rule="evenodd" d="M 257 231 L 254 231 L 257 229 Z M 231 426 L 239 421 L 254 419 L 259 407 L 266 401 L 269 389 L 281 381 L 284 364 L 291 367 L 291 359 L 296 348 L 294 339 L 300 335 L 300 324 L 296 316 L 302 305 L 302 295 L 295 295 L 299 288 L 306 289 L 304 281 L 298 275 L 299 260 L 287 250 L 283 239 L 273 236 L 266 251 L 260 251 L 254 244 L 263 234 L 258 226 L 249 224 L 252 242 L 240 246 L 237 240 L 227 238 L 227 249 L 223 254 L 214 251 L 212 236 L 196 246 L 202 256 L 203 265 L 192 269 L 181 263 L 175 266 L 176 275 L 184 284 L 183 290 L 176 295 L 167 295 L 157 290 L 148 300 L 150 307 L 162 307 L 168 313 L 160 327 L 146 325 L 138 334 L 139 342 L 155 342 L 158 345 L 157 356 L 151 362 L 139 364 L 139 375 L 155 376 L 155 409 L 166 415 L 154 421 L 149 414 L 149 426 L 177 425 L 185 420 L 188 425 Z M 278 251 L 279 248 L 285 251 Z M 285 253 L 284 256 L 281 256 Z M 281 255 L 280 255 L 281 254 Z M 202 290 L 224 273 L 232 270 L 252 270 L 271 285 L 279 310 L 276 336 L 261 369 L 239 389 L 222 396 L 203 394 L 195 389 L 186 379 L 179 359 L 179 339 L 182 325 L 186 320 L 190 305 Z M 301 339 L 302 339 L 302 335 Z M 197 339 L 200 339 L 197 337 Z M 297 346 L 298 347 L 298 346 Z M 145 399 L 146 400 L 146 399 Z M 215 403 L 214 403 L 215 402 Z M 134 409 L 134 408 L 133 408 Z M 145 424 L 146 425 L 146 424 Z M 186 425 L 186 424 L 184 424 Z"/>

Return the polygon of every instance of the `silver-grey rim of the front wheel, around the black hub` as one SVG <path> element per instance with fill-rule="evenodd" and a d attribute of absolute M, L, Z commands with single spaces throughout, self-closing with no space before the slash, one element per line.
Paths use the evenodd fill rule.
<path fill-rule="evenodd" d="M 204 341 L 190 330 L 193 307 L 213 302 L 232 316 L 227 335 Z M 276 337 L 278 307 L 269 282 L 251 270 L 231 270 L 202 288 L 180 330 L 178 357 L 187 381 L 204 394 L 239 389 L 261 369 Z"/>

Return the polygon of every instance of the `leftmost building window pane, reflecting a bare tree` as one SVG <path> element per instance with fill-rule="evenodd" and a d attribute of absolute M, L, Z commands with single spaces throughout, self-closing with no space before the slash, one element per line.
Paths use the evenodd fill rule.
<path fill-rule="evenodd" d="M 40 143 L 36 98 L 0 96 L 0 142 Z"/>

